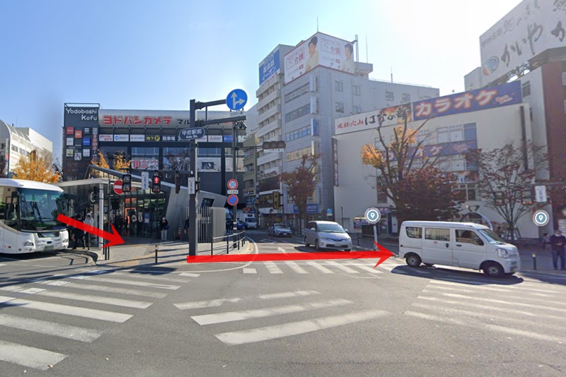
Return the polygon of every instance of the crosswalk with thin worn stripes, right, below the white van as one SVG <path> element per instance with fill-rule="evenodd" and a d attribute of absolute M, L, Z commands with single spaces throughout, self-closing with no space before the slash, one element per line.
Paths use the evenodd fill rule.
<path fill-rule="evenodd" d="M 500 337 L 566 343 L 566 287 L 524 281 L 431 280 L 404 315 L 487 330 Z"/>

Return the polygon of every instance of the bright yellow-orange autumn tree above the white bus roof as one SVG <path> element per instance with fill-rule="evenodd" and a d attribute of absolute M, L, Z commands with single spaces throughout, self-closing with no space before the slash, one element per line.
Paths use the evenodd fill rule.
<path fill-rule="evenodd" d="M 29 155 L 20 159 L 13 169 L 16 179 L 54 183 L 59 181 L 60 174 L 53 169 L 53 160 L 50 153 L 32 150 Z"/>

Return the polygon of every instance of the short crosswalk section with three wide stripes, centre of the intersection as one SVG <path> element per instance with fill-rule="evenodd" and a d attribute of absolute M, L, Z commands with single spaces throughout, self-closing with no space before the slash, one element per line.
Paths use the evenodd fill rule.
<path fill-rule="evenodd" d="M 214 331 L 214 336 L 226 345 L 245 345 L 301 335 L 391 314 L 374 309 L 356 310 L 355 305 L 347 299 L 323 299 L 320 292 L 308 290 L 175 304 L 183 311 L 197 311 L 190 318 L 198 325 L 216 325 L 213 328 L 221 332 Z M 325 315 L 325 309 L 332 310 L 333 314 Z M 336 314 L 336 310 L 342 313 Z M 258 324 L 263 323 L 264 318 L 280 318 L 279 316 L 284 316 L 284 323 L 277 321 L 267 326 Z M 304 319 L 305 316 L 312 318 Z M 296 321 L 299 318 L 300 321 Z"/>

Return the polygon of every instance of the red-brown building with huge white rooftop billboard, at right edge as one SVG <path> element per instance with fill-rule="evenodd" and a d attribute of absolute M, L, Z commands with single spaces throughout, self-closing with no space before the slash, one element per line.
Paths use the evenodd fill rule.
<path fill-rule="evenodd" d="M 521 81 L 530 105 L 532 140 L 548 152 L 551 221 L 545 232 L 566 232 L 566 4 L 524 0 L 480 36 L 481 66 L 464 78 L 466 88 Z M 553 190 L 550 190 L 554 188 Z M 550 192 L 552 191 L 552 192 Z"/>

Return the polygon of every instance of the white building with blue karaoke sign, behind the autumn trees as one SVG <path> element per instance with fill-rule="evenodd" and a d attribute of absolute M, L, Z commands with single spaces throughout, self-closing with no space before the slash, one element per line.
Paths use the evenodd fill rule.
<path fill-rule="evenodd" d="M 490 94 L 494 90 L 496 94 Z M 466 106 L 461 106 L 456 109 L 457 104 L 466 98 L 470 99 L 470 107 L 466 109 Z M 508 102 L 499 104 L 503 102 L 503 98 Z M 520 83 L 413 102 L 407 107 L 411 114 L 409 119 L 412 119 L 408 122 L 409 128 L 418 128 L 424 119 L 429 119 L 419 132 L 417 140 L 426 140 L 425 157 L 443 156 L 440 169 L 458 175 L 458 189 L 466 193 L 467 201 L 464 205 L 479 205 L 478 212 L 487 219 L 503 222 L 495 210 L 487 208 L 480 200 L 477 171 L 474 167 L 467 166 L 464 153 L 475 148 L 501 148 L 507 143 L 520 145 L 524 136 L 527 139 L 533 138 L 533 125 L 528 116 L 529 104 L 521 102 Z M 473 111 L 474 109 L 477 110 Z M 445 110 L 444 114 L 441 110 Z M 382 221 L 390 222 L 389 227 L 383 224 L 380 229 L 397 232 L 395 218 L 389 215 L 392 203 L 376 191 L 376 169 L 362 164 L 363 145 L 372 144 L 382 149 L 379 139 L 376 140 L 379 136 L 376 130 L 379 123 L 366 124 L 366 119 L 371 121 L 383 114 L 381 133 L 384 140 L 388 141 L 393 136 L 395 126 L 403 124 L 400 119 L 388 120 L 388 115 L 395 112 L 396 109 L 383 109 L 335 119 L 336 220 L 354 232 L 360 231 L 359 223 L 354 226 L 354 218 L 364 217 L 364 212 L 369 207 L 380 208 Z M 539 237 L 539 229 L 529 215 L 521 218 L 518 227 L 521 237 Z"/>

